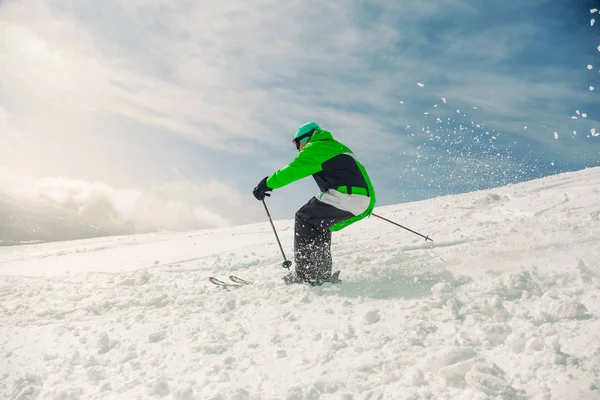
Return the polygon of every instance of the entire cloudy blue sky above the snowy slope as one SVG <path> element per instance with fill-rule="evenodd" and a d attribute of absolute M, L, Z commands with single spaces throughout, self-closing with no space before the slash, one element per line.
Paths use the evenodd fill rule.
<path fill-rule="evenodd" d="M 307 121 L 357 154 L 380 206 L 598 166 L 594 9 L 1 0 L 0 191 L 146 230 L 261 221 L 252 188 Z M 276 191 L 274 217 L 317 190 Z"/>

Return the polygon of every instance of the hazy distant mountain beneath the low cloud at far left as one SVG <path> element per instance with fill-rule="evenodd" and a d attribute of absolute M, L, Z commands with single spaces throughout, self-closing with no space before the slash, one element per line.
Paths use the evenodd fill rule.
<path fill-rule="evenodd" d="M 75 211 L 0 192 L 0 246 L 123 235 L 132 231 L 132 227 L 112 221 L 92 224 Z"/>

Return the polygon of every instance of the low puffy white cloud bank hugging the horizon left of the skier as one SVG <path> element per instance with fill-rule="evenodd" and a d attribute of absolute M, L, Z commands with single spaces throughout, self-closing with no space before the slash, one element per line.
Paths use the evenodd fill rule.
<path fill-rule="evenodd" d="M 0 167 L 0 193 L 27 205 L 78 216 L 87 224 L 110 224 L 122 233 L 187 231 L 251 221 L 252 210 L 235 187 L 212 180 L 172 182 L 143 189 L 117 189 L 66 177 L 33 178 Z"/>

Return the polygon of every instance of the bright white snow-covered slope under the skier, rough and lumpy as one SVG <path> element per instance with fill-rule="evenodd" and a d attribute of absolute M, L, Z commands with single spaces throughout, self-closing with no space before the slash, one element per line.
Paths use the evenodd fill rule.
<path fill-rule="evenodd" d="M 267 222 L 0 248 L 0 397 L 600 399 L 600 168 L 377 212 L 435 242 L 351 226 L 339 286 Z"/>

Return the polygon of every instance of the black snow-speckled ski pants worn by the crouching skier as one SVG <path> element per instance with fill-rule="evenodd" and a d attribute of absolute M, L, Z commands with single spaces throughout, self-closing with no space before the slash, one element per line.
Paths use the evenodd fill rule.
<path fill-rule="evenodd" d="M 304 281 L 323 281 L 331 276 L 331 231 L 354 214 L 313 197 L 296 212 L 294 259 L 296 274 Z"/>

